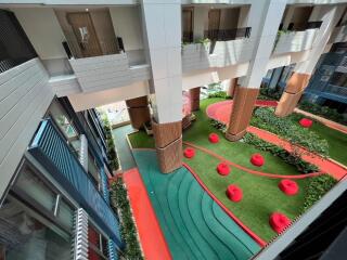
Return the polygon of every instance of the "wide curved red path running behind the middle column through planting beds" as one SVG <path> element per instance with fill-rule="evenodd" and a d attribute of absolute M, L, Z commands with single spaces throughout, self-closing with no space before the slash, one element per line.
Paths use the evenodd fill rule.
<path fill-rule="evenodd" d="M 262 106 L 267 106 L 267 104 L 268 106 L 273 106 L 274 103 L 272 101 L 261 101 Z M 232 101 L 222 101 L 222 102 L 218 102 L 209 105 L 206 109 L 206 114 L 210 118 L 214 118 L 224 123 L 229 123 L 231 109 L 232 109 Z M 290 153 L 293 152 L 293 146 L 295 146 L 296 150 L 298 150 L 304 154 L 301 156 L 304 160 L 318 166 L 321 171 L 329 173 L 330 176 L 334 177 L 336 180 L 342 180 L 347 173 L 347 167 L 343 167 L 333 160 L 325 159 L 320 155 L 310 153 L 300 146 L 292 145 L 290 142 L 279 138 L 277 134 L 273 134 L 271 132 L 268 132 L 266 130 L 255 128 L 252 126 L 247 128 L 247 132 L 254 133 L 260 139 L 269 143 L 279 145 Z"/>

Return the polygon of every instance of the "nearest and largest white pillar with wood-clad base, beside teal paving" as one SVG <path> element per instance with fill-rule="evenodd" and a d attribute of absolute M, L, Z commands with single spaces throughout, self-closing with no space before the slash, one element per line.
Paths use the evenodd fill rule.
<path fill-rule="evenodd" d="M 162 172 L 182 166 L 181 2 L 141 0 L 145 54 L 153 79 L 152 128 Z"/>

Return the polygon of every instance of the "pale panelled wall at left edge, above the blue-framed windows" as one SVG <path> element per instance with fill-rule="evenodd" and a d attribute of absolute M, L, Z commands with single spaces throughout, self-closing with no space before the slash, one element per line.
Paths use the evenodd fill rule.
<path fill-rule="evenodd" d="M 0 74 L 0 197 L 52 99 L 38 58 Z"/>

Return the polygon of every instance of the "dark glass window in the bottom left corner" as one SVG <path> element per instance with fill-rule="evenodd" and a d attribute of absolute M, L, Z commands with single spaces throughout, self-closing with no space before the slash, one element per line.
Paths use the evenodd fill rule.
<path fill-rule="evenodd" d="M 0 208 L 0 259 L 69 260 L 72 242 L 12 197 Z"/>

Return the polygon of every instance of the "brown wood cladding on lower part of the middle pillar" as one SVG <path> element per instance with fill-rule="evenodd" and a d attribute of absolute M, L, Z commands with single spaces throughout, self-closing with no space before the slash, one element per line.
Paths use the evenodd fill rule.
<path fill-rule="evenodd" d="M 237 141 L 246 133 L 259 89 L 236 87 L 226 138 Z"/>

